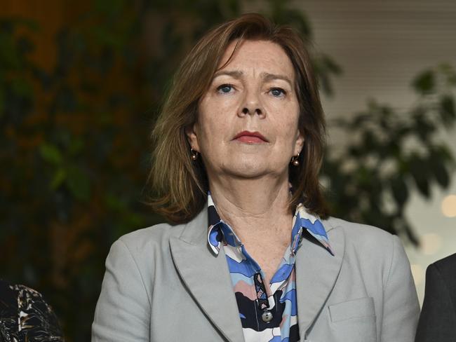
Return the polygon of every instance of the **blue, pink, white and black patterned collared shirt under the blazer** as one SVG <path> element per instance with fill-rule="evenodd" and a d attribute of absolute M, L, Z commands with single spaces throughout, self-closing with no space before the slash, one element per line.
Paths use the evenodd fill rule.
<path fill-rule="evenodd" d="M 303 234 L 308 233 L 332 255 L 328 235 L 321 221 L 309 214 L 303 205 L 297 205 L 291 230 L 291 242 L 287 247 L 279 268 L 265 286 L 264 273 L 250 257 L 241 240 L 232 228 L 220 219 L 208 193 L 208 245 L 215 254 L 223 248 L 239 317 L 246 342 L 295 342 L 300 340 L 297 324 L 297 299 L 295 282 L 295 253 L 300 248 Z M 269 322 L 262 315 L 272 314 Z"/>

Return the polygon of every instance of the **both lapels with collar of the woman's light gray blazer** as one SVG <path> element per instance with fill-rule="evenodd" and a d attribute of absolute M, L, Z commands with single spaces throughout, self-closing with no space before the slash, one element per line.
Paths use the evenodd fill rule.
<path fill-rule="evenodd" d="M 297 313 L 304 341 L 326 304 L 344 257 L 344 232 L 333 219 L 322 220 L 331 249 L 307 236 L 296 252 Z M 183 282 L 213 325 L 228 341 L 244 341 L 239 310 L 223 249 L 213 254 L 208 246 L 207 207 L 186 224 L 180 237 L 170 238 L 173 261 Z"/>

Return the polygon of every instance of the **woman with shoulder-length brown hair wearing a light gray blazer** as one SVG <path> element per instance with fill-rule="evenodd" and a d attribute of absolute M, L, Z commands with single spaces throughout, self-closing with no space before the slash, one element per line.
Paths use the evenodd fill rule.
<path fill-rule="evenodd" d="M 92 341 L 413 341 L 396 236 L 328 217 L 300 37 L 261 15 L 190 51 L 154 128 L 160 224 L 114 243 Z"/>

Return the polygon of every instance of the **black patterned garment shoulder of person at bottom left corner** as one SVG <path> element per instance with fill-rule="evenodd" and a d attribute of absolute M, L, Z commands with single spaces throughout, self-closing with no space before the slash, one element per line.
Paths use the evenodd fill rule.
<path fill-rule="evenodd" d="M 0 341 L 64 341 L 51 306 L 34 289 L 0 281 Z"/>

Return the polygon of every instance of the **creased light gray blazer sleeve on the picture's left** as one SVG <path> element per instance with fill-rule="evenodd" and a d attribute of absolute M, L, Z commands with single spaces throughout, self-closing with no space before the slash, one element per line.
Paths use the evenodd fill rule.
<path fill-rule="evenodd" d="M 149 341 L 150 313 L 140 269 L 127 245 L 117 240 L 106 259 L 92 342 Z"/>

